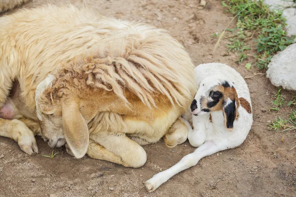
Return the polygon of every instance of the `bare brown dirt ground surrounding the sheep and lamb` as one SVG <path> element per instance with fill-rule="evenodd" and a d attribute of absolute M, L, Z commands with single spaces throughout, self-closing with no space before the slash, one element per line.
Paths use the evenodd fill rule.
<path fill-rule="evenodd" d="M 202 9 L 198 8 L 199 0 L 33 0 L 23 7 L 46 2 L 71 2 L 78 7 L 85 3 L 107 16 L 140 20 L 169 30 L 184 44 L 196 66 L 221 62 L 244 77 L 264 72 L 257 68 L 248 71 L 235 63 L 235 55 L 226 53 L 226 40 L 213 54 L 217 39 L 210 36 L 222 32 L 232 17 L 224 13 L 220 0 L 207 0 Z M 87 156 L 76 160 L 65 148 L 56 149 L 60 154 L 52 159 L 43 157 L 52 149 L 39 137 L 40 153 L 29 156 L 15 141 L 0 137 L 0 155 L 4 156 L 0 159 L 0 197 L 295 197 L 296 149 L 290 150 L 295 145 L 295 132 L 276 133 L 267 127 L 277 115 L 284 118 L 292 110 L 284 107 L 279 113 L 269 111 L 277 88 L 265 76 L 256 75 L 246 82 L 254 113 L 246 141 L 236 149 L 202 159 L 151 194 L 144 182 L 192 152 L 188 141 L 173 149 L 165 147 L 163 140 L 145 146 L 147 163 L 134 169 Z M 287 100 L 293 96 L 285 91 L 283 94 Z"/>

